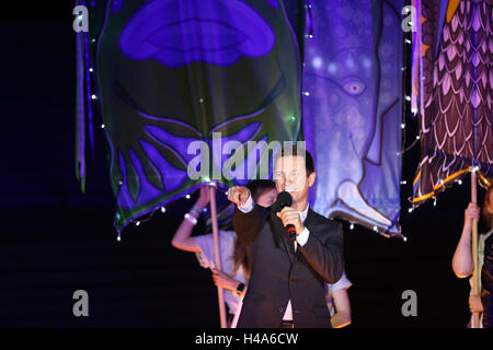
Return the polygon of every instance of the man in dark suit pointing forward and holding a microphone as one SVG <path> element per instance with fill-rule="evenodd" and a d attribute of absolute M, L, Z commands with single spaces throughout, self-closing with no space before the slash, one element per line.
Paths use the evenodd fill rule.
<path fill-rule="evenodd" d="M 228 189 L 237 205 L 233 228 L 252 248 L 252 270 L 238 320 L 239 328 L 331 327 L 324 281 L 335 283 L 344 270 L 342 225 L 308 206 L 316 173 L 311 155 L 296 145 L 274 164 L 276 188 L 293 205 L 277 209 L 253 203 L 245 187 Z M 296 229 L 291 242 L 286 226 Z"/>

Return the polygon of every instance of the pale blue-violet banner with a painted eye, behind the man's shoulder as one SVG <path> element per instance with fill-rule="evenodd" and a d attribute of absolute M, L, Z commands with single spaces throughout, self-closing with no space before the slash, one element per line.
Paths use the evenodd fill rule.
<path fill-rule="evenodd" d="M 303 135 L 310 202 L 331 218 L 400 234 L 403 1 L 307 1 Z"/>

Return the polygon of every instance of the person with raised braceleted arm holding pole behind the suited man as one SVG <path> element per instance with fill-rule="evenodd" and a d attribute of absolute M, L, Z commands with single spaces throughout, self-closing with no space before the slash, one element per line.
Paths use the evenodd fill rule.
<path fill-rule="evenodd" d="M 261 206 L 270 207 L 277 196 L 275 184 L 270 180 L 252 180 L 248 185 L 252 196 Z M 228 325 L 237 312 L 241 295 L 246 290 L 251 269 L 251 256 L 249 249 L 237 238 L 234 231 L 219 230 L 219 246 L 222 270 L 218 270 L 214 264 L 213 234 L 192 236 L 192 230 L 197 223 L 203 209 L 209 203 L 208 186 L 202 186 L 197 201 L 191 211 L 185 214 L 177 228 L 171 244 L 173 247 L 195 253 L 202 267 L 210 268 L 213 280 L 217 287 L 225 289 L 225 302 L 228 305 Z"/>

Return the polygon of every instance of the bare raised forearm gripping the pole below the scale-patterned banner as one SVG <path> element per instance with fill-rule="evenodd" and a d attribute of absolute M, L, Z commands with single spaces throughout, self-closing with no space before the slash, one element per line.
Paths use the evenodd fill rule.
<path fill-rule="evenodd" d="M 459 278 L 468 277 L 472 273 L 472 252 L 471 252 L 471 232 L 472 220 L 480 218 L 480 207 L 470 202 L 465 211 L 465 222 L 462 228 L 462 234 L 460 235 L 459 244 L 452 257 L 452 270 Z"/>

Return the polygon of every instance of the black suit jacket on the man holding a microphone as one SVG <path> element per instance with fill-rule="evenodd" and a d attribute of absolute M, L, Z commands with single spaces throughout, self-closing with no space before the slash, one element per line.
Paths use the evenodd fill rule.
<path fill-rule="evenodd" d="M 243 244 L 252 245 L 253 260 L 239 328 L 279 327 L 289 300 L 295 327 L 331 327 L 324 282 L 335 283 L 344 270 L 342 224 L 311 209 L 303 224 L 309 238 L 295 253 L 271 209 L 255 205 L 243 213 L 236 208 L 233 228 Z"/>

